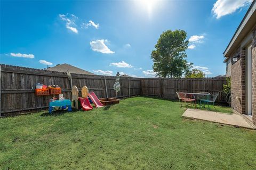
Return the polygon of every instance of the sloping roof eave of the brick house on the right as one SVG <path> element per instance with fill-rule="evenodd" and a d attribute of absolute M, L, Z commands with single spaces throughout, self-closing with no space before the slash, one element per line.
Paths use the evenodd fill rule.
<path fill-rule="evenodd" d="M 242 22 L 239 24 L 238 28 L 232 39 L 230 40 L 227 48 L 225 49 L 224 57 L 230 57 L 231 53 L 234 52 L 235 48 L 242 42 L 242 40 L 248 35 L 252 27 L 255 25 L 256 21 L 256 0 L 254 0 L 246 12 Z M 227 61 L 227 58 L 224 62 Z"/>

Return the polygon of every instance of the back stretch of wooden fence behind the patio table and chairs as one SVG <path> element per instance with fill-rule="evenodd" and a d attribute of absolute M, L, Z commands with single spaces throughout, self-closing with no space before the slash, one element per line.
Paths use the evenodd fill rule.
<path fill-rule="evenodd" d="M 223 90 L 226 78 L 194 78 L 194 79 L 168 79 L 168 78 L 147 78 L 141 80 L 142 94 L 157 96 L 167 99 L 177 99 L 177 91 L 181 92 L 219 92 Z M 219 103 L 226 103 L 226 95 L 219 92 L 216 100 Z"/>

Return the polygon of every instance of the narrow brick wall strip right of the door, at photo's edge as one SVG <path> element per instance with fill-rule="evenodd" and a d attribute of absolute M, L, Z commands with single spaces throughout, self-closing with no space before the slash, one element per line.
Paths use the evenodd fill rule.
<path fill-rule="evenodd" d="M 252 30 L 252 121 L 256 124 L 256 25 Z"/>

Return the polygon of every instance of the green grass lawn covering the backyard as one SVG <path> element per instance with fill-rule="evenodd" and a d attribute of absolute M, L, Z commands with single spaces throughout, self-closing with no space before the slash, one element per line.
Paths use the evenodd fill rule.
<path fill-rule="evenodd" d="M 255 169 L 255 131 L 186 120 L 184 111 L 134 97 L 89 112 L 1 118 L 0 169 Z"/>

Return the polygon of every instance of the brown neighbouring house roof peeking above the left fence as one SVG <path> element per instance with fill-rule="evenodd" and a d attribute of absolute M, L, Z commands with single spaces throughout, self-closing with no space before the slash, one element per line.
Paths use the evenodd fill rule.
<path fill-rule="evenodd" d="M 79 69 L 73 65 L 70 64 L 57 64 L 54 67 L 49 67 L 47 70 L 50 71 L 58 71 L 58 72 L 70 72 L 70 73 L 76 73 L 76 74 L 89 74 L 89 75 L 95 75 L 89 71 L 85 71 L 83 69 Z"/>

